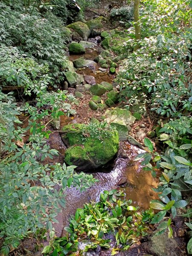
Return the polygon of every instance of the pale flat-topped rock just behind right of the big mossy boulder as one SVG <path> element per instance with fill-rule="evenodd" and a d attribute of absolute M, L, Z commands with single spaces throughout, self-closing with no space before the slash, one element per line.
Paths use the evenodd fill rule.
<path fill-rule="evenodd" d="M 106 110 L 105 121 L 116 128 L 119 134 L 119 140 L 128 140 L 128 134 L 131 131 L 131 125 L 135 122 L 135 117 L 127 109 L 114 108 L 113 110 Z"/>

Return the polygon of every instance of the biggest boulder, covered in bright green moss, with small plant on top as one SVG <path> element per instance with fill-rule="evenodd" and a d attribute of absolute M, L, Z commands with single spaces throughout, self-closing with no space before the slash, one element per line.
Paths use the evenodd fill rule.
<path fill-rule="evenodd" d="M 61 139 L 69 147 L 65 151 L 65 162 L 78 166 L 77 170 L 92 170 L 103 166 L 115 156 L 119 148 L 119 137 L 115 130 L 105 131 L 101 134 L 101 140 L 84 137 L 84 124 L 65 125 L 62 131 L 64 134 Z"/>

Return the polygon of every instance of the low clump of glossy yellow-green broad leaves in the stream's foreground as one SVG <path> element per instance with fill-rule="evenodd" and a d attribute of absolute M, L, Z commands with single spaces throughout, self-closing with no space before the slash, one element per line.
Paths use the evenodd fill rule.
<path fill-rule="evenodd" d="M 123 192 L 116 190 L 104 191 L 100 194 L 98 203 L 85 204 L 83 209 L 77 209 L 69 227 L 65 227 L 69 234 L 52 239 L 50 244 L 44 247 L 43 253 L 47 255 L 53 251 L 59 255 L 67 255 L 77 252 L 79 241 L 84 240 L 90 241 L 84 251 L 95 249 L 98 245 L 110 248 L 110 240 L 104 238 L 109 232 L 115 234 L 116 238 L 111 255 L 115 255 L 121 248 L 127 250 L 131 244 L 139 240 L 140 235 L 145 235 L 153 212 L 138 212 L 138 207 L 132 206 L 131 200 L 121 199 L 122 196 Z"/>

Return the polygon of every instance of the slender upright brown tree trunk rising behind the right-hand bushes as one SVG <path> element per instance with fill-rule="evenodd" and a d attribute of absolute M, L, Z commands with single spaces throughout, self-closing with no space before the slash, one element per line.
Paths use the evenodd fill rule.
<path fill-rule="evenodd" d="M 140 0 L 134 0 L 134 22 L 135 22 L 135 38 L 137 45 L 134 47 L 134 51 L 136 51 L 140 45 L 139 41 L 141 40 L 141 27 L 140 27 Z"/>

